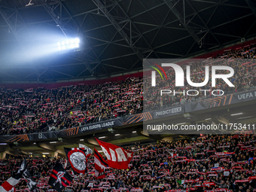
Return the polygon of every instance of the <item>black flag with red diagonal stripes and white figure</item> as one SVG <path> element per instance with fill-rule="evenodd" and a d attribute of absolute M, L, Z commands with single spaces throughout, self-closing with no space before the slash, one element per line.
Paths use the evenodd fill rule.
<path fill-rule="evenodd" d="M 50 186 L 52 186 L 58 192 L 61 192 L 65 187 L 69 186 L 72 179 L 72 176 L 65 171 L 60 163 L 57 162 L 53 168 L 53 172 L 50 175 L 48 184 L 50 184 Z"/>

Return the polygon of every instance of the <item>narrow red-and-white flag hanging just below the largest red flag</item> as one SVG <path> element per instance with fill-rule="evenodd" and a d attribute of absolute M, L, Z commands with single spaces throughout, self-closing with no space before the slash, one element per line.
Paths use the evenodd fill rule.
<path fill-rule="evenodd" d="M 108 163 L 103 159 L 102 155 L 94 148 L 94 167 L 96 178 L 105 178 L 105 168 Z"/>

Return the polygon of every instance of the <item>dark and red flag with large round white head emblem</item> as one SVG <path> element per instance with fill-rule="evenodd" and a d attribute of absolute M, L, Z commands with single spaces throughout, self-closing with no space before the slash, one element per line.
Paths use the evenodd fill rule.
<path fill-rule="evenodd" d="M 87 151 L 81 148 L 64 148 L 75 175 L 87 172 Z"/>

